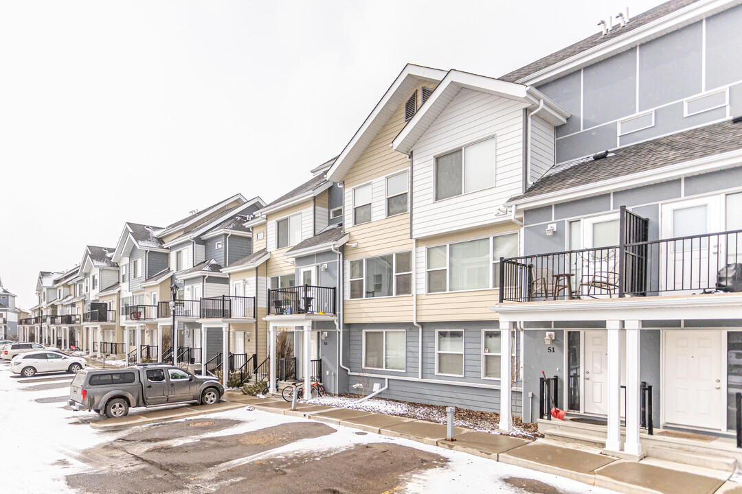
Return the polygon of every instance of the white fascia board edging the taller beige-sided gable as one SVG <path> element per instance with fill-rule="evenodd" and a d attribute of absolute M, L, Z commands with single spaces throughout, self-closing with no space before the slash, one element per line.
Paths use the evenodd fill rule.
<path fill-rule="evenodd" d="M 360 151 L 357 149 L 359 141 L 361 141 L 362 138 L 367 137 L 367 133 L 369 132 L 372 132 L 374 134 L 373 136 L 371 136 L 371 138 L 375 137 L 379 129 L 372 129 L 372 127 L 381 127 L 381 125 L 383 125 L 379 125 L 376 121 L 378 119 L 378 116 L 384 111 L 384 109 L 387 107 L 387 104 L 389 104 L 390 101 L 394 98 L 398 89 L 401 87 L 408 76 L 413 76 L 416 79 L 439 82 L 442 81 L 446 76 L 446 71 L 433 69 L 430 67 L 421 67 L 419 65 L 407 64 L 401 71 L 401 73 L 399 73 L 389 89 L 387 89 L 387 92 L 384 93 L 384 96 L 381 97 L 381 100 L 378 101 L 369 116 L 366 117 L 366 120 L 364 120 L 364 123 L 361 124 L 361 127 L 355 132 L 348 144 L 346 144 L 342 153 L 340 153 L 340 156 L 335 159 L 335 163 L 332 164 L 332 167 L 327 170 L 326 177 L 329 181 L 343 181 L 345 174 L 350 169 L 350 167 L 352 167 L 352 164 L 355 163 L 355 160 L 358 159 L 358 156 L 363 153 L 364 149 L 366 149 L 366 145 L 362 143 L 361 147 L 363 147 L 363 149 L 361 149 Z M 398 104 L 401 104 L 401 102 L 399 102 Z M 398 104 L 395 103 L 395 109 Z M 384 121 L 384 123 L 386 123 L 386 121 Z"/>

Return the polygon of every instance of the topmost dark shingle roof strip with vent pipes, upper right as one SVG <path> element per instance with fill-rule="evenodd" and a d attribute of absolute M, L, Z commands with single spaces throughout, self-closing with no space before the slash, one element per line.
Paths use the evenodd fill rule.
<path fill-rule="evenodd" d="M 666 1 L 665 3 L 658 5 L 657 7 L 654 7 L 653 9 L 647 10 L 644 13 L 640 13 L 638 16 L 632 17 L 630 21 L 628 22 L 628 24 L 626 24 L 625 26 L 614 27 L 605 36 L 603 36 L 603 33 L 596 33 L 593 36 L 590 36 L 589 38 L 585 38 L 582 41 L 578 41 L 575 44 L 571 44 L 570 46 L 562 50 L 551 53 L 551 55 L 548 55 L 548 56 L 543 57 L 542 59 L 533 61 L 530 64 L 526 65 L 525 67 L 520 67 L 517 70 L 513 70 L 513 72 L 507 73 L 505 74 L 505 76 L 502 76 L 499 79 L 502 79 L 503 81 L 508 81 L 508 82 L 515 82 L 526 76 L 531 76 L 531 74 L 536 73 L 539 70 L 545 69 L 546 67 L 556 64 L 559 61 L 566 60 L 570 58 L 571 56 L 575 56 L 579 53 L 582 53 L 586 50 L 591 49 L 592 47 L 596 47 L 599 44 L 603 44 L 605 43 L 605 41 L 611 41 L 611 39 L 617 38 L 618 36 L 622 36 L 623 34 L 626 34 L 629 31 L 636 29 L 637 27 L 641 27 L 644 24 L 648 24 L 651 21 L 654 21 L 656 19 L 659 19 L 660 17 L 666 16 L 667 14 L 672 13 L 675 10 L 680 10 L 683 7 L 687 7 L 688 5 L 693 4 L 696 1 L 698 0 Z"/>

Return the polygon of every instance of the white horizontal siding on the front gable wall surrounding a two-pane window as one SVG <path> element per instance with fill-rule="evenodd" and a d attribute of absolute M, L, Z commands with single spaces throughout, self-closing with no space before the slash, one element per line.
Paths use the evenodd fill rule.
<path fill-rule="evenodd" d="M 413 236 L 490 224 L 493 212 L 523 190 L 523 108 L 517 101 L 464 89 L 414 147 Z M 495 187 L 435 201 L 434 156 L 494 136 Z"/>

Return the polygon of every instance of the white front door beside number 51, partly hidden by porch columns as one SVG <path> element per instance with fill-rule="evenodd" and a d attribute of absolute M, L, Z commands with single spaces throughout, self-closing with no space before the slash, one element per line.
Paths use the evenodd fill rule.
<path fill-rule="evenodd" d="M 621 331 L 621 384 L 626 384 L 626 333 Z M 608 330 L 585 331 L 585 413 L 608 415 Z M 621 393 L 621 416 L 624 415 Z"/>

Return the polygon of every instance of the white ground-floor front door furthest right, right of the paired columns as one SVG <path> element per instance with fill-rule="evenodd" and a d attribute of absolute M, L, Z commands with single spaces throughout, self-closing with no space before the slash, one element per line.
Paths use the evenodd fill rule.
<path fill-rule="evenodd" d="M 669 424 L 720 429 L 723 410 L 721 332 L 666 331 L 663 405 Z"/>

